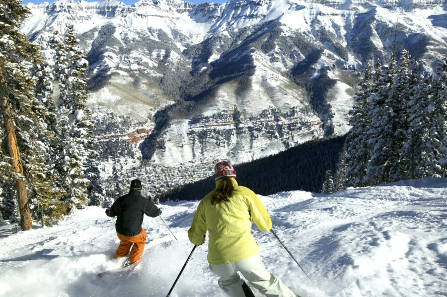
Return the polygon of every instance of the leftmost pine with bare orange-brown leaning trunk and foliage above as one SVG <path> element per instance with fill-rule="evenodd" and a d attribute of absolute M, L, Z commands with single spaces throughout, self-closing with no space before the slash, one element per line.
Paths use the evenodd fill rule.
<path fill-rule="evenodd" d="M 39 64 L 42 57 L 37 46 L 32 45 L 19 32 L 20 21 L 29 10 L 17 0 L 0 0 L 0 100 L 8 154 L 16 172 L 15 185 L 19 201 L 22 230 L 32 228 L 31 211 L 22 164 L 23 140 L 26 130 L 33 123 L 31 101 L 34 99 L 34 80 L 29 67 Z M 17 129 L 17 132 L 16 132 Z M 21 135 L 19 135 L 19 133 Z M 22 138 L 22 139 L 20 139 Z M 32 141 L 32 139 L 29 139 Z M 22 153 L 22 154 L 21 154 Z"/>

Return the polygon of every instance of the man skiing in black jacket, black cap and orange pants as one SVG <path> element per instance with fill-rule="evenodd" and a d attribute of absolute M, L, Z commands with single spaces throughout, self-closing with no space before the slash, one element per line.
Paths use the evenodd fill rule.
<path fill-rule="evenodd" d="M 146 243 L 146 231 L 141 228 L 143 214 L 155 218 L 161 213 L 162 211 L 150 199 L 141 196 L 141 181 L 133 179 L 130 182 L 129 193 L 119 197 L 110 209 L 106 209 L 107 216 L 118 216 L 115 229 L 120 244 L 114 259 L 126 256 L 132 247 L 129 258 L 123 266 L 140 260 Z"/>

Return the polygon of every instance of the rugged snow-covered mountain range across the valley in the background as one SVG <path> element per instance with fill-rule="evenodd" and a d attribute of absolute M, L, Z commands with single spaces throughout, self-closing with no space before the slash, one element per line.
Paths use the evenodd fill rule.
<path fill-rule="evenodd" d="M 243 162 L 344 134 L 362 66 L 386 63 L 404 47 L 425 71 L 447 56 L 441 0 L 28 7 L 21 30 L 48 60 L 54 31 L 75 24 L 90 63 L 98 139 L 111 146 L 136 129 L 151 131 L 133 148 L 156 165 Z"/>

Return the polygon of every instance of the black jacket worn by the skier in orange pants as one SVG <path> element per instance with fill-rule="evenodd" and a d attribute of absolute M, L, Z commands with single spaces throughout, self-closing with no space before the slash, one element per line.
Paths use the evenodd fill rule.
<path fill-rule="evenodd" d="M 116 232 L 125 236 L 135 236 L 141 232 L 143 214 L 155 218 L 161 214 L 160 209 L 141 196 L 137 189 L 130 189 L 129 193 L 119 197 L 110 208 L 109 217 L 116 219 Z"/>

